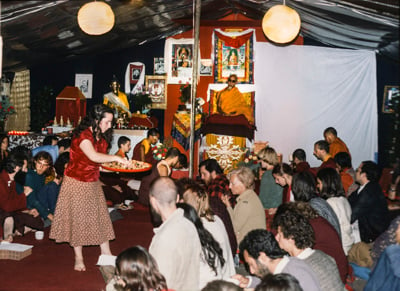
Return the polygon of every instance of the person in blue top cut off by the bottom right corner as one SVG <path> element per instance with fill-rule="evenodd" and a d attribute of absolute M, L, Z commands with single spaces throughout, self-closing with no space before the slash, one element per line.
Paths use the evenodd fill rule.
<path fill-rule="evenodd" d="M 364 291 L 400 290 L 400 225 L 396 230 L 396 244 L 388 246 L 380 255 Z"/>

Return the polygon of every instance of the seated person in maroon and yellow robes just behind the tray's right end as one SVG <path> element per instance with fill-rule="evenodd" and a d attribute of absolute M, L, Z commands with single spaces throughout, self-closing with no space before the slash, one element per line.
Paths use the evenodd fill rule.
<path fill-rule="evenodd" d="M 135 145 L 133 148 L 132 160 L 142 161 L 156 164 L 157 161 L 153 157 L 152 146 L 155 146 L 160 139 L 160 132 L 157 128 L 151 128 L 147 132 L 147 138 Z"/>

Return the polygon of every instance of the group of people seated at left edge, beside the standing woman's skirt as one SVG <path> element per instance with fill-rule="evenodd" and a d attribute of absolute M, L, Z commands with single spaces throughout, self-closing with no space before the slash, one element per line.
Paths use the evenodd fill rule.
<path fill-rule="evenodd" d="M 51 225 L 58 193 L 69 161 L 71 140 L 47 136 L 41 146 L 8 149 L 2 139 L 0 223 L 3 240 Z"/>

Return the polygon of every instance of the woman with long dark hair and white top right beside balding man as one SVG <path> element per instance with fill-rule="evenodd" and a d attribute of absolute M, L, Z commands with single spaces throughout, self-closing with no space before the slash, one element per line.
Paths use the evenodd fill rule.
<path fill-rule="evenodd" d="M 193 222 L 199 235 L 202 248 L 199 270 L 199 289 L 201 289 L 210 281 L 222 279 L 222 268 L 225 265 L 223 251 L 212 234 L 204 228 L 196 210 L 191 205 L 178 203 L 176 206 L 184 210 L 184 216 Z"/>

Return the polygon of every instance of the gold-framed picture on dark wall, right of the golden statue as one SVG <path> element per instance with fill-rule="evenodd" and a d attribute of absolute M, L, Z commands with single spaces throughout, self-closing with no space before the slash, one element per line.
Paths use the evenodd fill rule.
<path fill-rule="evenodd" d="M 167 109 L 167 78 L 166 76 L 146 76 L 146 88 L 153 102 L 153 109 Z"/>

